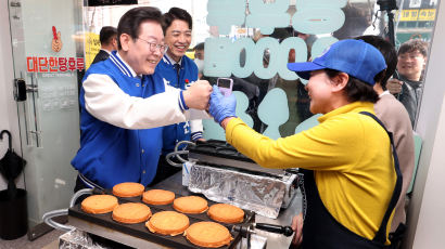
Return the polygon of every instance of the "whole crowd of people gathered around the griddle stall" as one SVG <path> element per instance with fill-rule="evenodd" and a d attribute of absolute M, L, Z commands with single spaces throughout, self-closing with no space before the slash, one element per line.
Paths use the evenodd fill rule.
<path fill-rule="evenodd" d="M 237 118 L 234 95 L 212 87 L 202 70 L 204 43 L 194 47 L 194 61 L 186 55 L 192 23 L 180 8 L 162 14 L 140 6 L 117 28 L 101 29 L 101 51 L 80 88 L 75 191 L 165 180 L 180 170 L 166 155 L 180 141 L 203 140 L 201 119 L 214 118 L 227 142 L 260 167 L 301 169 L 305 208 L 293 218 L 291 247 L 395 248 L 406 222 L 428 43 L 409 40 L 396 52 L 381 37 L 360 36 L 305 63 L 291 51 L 288 69 L 305 79 L 294 82 L 301 121 L 322 116 L 309 130 L 271 140 Z M 232 78 L 253 105 L 264 97 L 257 80 Z"/>

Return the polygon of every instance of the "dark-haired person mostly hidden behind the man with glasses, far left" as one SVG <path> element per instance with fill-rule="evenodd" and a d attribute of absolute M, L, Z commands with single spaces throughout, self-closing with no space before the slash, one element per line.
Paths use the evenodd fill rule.
<path fill-rule="evenodd" d="M 101 50 L 96 55 L 91 64 L 105 61 L 110 57 L 112 51 L 117 50 L 117 28 L 104 26 L 99 34 Z"/>

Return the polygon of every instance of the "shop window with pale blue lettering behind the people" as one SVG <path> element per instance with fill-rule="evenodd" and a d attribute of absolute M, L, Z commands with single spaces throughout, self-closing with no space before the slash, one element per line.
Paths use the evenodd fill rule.
<path fill-rule="evenodd" d="M 398 10 L 393 11 L 396 48 L 408 39 L 429 41 L 431 37 L 436 1 L 410 2 L 397 1 Z M 262 108 L 264 100 L 268 100 L 268 105 L 281 103 L 282 100 L 270 100 L 272 96 L 268 94 L 275 89 L 282 91 L 283 95 L 275 96 L 285 97 L 288 104 L 284 107 L 279 104 L 276 110 L 289 114 L 289 118 L 274 123 L 278 129 L 274 134 L 278 136 L 294 134 L 297 126 L 313 116 L 304 84 L 285 68 L 288 62 L 310 60 L 340 39 L 360 35 L 387 37 L 387 15 L 380 11 L 376 0 L 139 0 L 138 3 L 156 6 L 162 12 L 180 6 L 192 14 L 190 47 L 205 42 L 204 79 L 213 84 L 218 77 L 232 77 L 234 90 L 245 95 L 239 100 L 246 102 L 242 104 L 245 109 L 240 112 L 253 119 L 255 130 L 265 132 L 270 126 L 268 114 L 260 113 L 268 109 Z M 85 29 L 99 34 L 102 26 L 117 26 L 122 14 L 131 8 L 135 5 L 87 6 Z M 212 121 L 204 126 L 208 131 L 218 130 Z M 218 134 L 213 136 L 207 132 L 205 136 L 224 139 L 220 131 Z"/>

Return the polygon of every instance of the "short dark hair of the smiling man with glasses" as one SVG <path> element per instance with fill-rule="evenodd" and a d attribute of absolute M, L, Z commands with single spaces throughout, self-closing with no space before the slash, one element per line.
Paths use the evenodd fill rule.
<path fill-rule="evenodd" d="M 117 25 L 117 48 L 120 50 L 120 39 L 123 34 L 129 35 L 132 39 L 139 37 L 140 25 L 143 22 L 152 21 L 162 24 L 162 13 L 160 9 L 154 6 L 138 6 L 125 13 Z M 163 29 L 163 31 L 165 31 Z"/>

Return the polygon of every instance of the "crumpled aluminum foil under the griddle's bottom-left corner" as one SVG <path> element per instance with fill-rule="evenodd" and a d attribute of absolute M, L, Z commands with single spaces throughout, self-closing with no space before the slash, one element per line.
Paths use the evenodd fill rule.
<path fill-rule="evenodd" d="M 59 237 L 59 248 L 63 249 L 106 249 L 94 243 L 91 237 L 79 230 L 72 230 Z"/>

